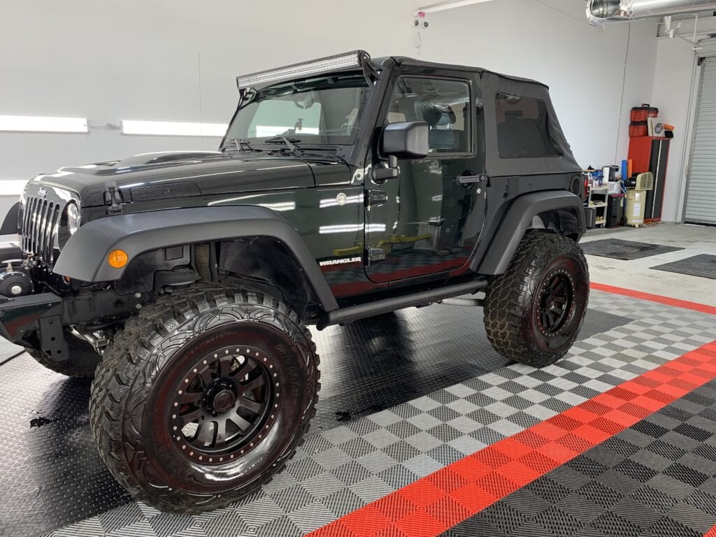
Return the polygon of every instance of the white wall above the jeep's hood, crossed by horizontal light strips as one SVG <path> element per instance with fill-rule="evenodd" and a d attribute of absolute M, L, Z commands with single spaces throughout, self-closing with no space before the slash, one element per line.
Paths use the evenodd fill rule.
<path fill-rule="evenodd" d="M 0 115 L 228 122 L 237 74 L 361 47 L 410 52 L 416 2 L 3 1 Z M 213 150 L 219 140 L 0 133 L 0 180 L 154 150 Z"/>

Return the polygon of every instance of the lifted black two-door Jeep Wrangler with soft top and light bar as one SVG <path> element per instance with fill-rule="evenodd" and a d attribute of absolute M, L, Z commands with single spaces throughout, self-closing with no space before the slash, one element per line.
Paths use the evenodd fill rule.
<path fill-rule="evenodd" d="M 237 82 L 217 152 L 31 180 L 0 276 L 2 336 L 95 377 L 103 460 L 165 511 L 284 468 L 320 388 L 306 325 L 484 306 L 495 349 L 541 367 L 589 296 L 580 167 L 543 84 L 362 51 Z"/>

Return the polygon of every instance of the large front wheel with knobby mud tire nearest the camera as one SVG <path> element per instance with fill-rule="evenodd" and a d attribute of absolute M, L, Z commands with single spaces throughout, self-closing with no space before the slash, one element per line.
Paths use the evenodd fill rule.
<path fill-rule="evenodd" d="M 284 468 L 315 414 L 319 357 L 281 301 L 202 284 L 146 306 L 105 351 L 90 420 L 102 459 L 135 497 L 198 513 Z"/>

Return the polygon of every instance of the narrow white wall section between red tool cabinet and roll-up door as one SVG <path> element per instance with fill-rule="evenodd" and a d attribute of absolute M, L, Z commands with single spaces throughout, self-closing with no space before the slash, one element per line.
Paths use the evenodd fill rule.
<path fill-rule="evenodd" d="M 692 97 L 692 78 L 696 61 L 692 45 L 683 39 L 659 39 L 657 66 L 654 74 L 652 103 L 659 107 L 659 117 L 676 127 L 669 145 L 669 164 L 664 183 L 662 220 L 682 221 L 686 187 L 686 168 L 689 164 L 690 137 L 693 125 L 689 124 Z"/>

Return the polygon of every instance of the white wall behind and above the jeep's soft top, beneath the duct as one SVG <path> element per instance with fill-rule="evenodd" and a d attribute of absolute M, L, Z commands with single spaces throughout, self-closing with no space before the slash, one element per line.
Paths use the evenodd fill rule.
<path fill-rule="evenodd" d="M 629 110 L 652 95 L 656 22 L 596 28 L 586 21 L 584 2 L 548 1 L 495 0 L 428 14 L 420 56 L 545 82 L 577 161 L 619 164 L 629 146 Z"/>

